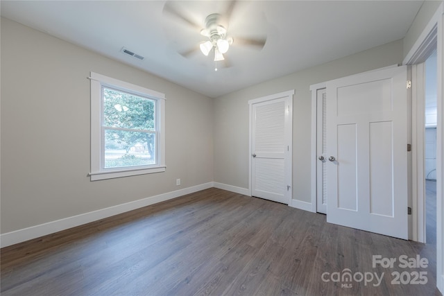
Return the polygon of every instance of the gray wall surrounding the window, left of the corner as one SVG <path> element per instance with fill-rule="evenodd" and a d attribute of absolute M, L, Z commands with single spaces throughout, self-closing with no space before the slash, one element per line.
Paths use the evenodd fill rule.
<path fill-rule="evenodd" d="M 165 173 L 89 181 L 89 71 L 166 95 Z M 206 96 L 2 18 L 1 233 L 212 182 L 213 110 Z"/>

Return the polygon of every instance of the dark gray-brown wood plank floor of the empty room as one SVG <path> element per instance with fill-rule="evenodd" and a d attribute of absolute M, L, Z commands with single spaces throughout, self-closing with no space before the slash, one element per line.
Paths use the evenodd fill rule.
<path fill-rule="evenodd" d="M 417 254 L 428 268 L 398 266 Z M 373 255 L 397 263 L 373 268 Z M 434 245 L 207 189 L 1 249 L 1 295 L 441 295 L 435 257 Z M 357 280 L 332 281 L 346 268 Z M 427 284 L 392 284 L 392 272 L 427 272 Z"/>

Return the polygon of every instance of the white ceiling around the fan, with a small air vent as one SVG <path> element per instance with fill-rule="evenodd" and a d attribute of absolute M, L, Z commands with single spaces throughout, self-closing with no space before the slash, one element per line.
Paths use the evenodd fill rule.
<path fill-rule="evenodd" d="M 423 1 L 237 1 L 228 24 L 231 67 L 187 51 L 199 30 L 164 12 L 167 1 L 1 1 L 1 15 L 212 98 L 398 40 Z M 169 1 L 203 28 L 230 1 Z M 236 37 L 262 37 L 264 48 Z M 125 46 L 143 61 L 121 53 Z"/>

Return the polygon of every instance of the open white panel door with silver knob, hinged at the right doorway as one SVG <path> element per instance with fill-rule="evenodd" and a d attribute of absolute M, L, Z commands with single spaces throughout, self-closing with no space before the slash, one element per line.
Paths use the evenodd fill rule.
<path fill-rule="evenodd" d="M 407 239 L 407 67 L 327 82 L 327 222 Z"/>

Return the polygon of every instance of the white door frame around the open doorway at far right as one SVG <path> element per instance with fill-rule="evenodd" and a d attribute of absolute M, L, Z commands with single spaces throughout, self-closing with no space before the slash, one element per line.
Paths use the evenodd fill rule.
<path fill-rule="evenodd" d="M 436 286 L 444 293 L 444 2 L 441 3 L 436 10 L 432 19 L 430 19 L 421 35 L 413 44 L 411 50 L 404 58 L 403 64 L 419 64 L 424 62 L 432 53 L 436 44 L 436 62 L 437 62 L 437 119 L 436 125 Z M 413 77 L 412 77 L 413 79 Z M 414 81 L 412 81 L 414 82 Z M 412 95 L 414 95 L 413 92 Z M 423 105 L 424 98 L 422 95 L 417 96 L 416 103 Z M 422 100 L 422 102 L 420 102 Z M 419 114 L 418 114 L 419 115 Z M 421 186 L 424 186 L 424 119 L 422 114 L 413 117 L 412 131 L 415 134 L 416 141 L 412 142 L 413 162 L 416 167 L 422 168 L 422 173 L 413 175 L 413 205 L 415 207 L 424 208 L 425 196 L 422 193 Z M 414 214 L 414 212 L 412 213 Z M 413 217 L 413 237 L 420 239 L 422 233 L 425 232 L 425 219 L 419 216 Z"/>

